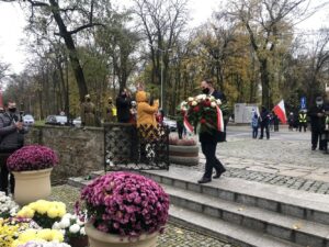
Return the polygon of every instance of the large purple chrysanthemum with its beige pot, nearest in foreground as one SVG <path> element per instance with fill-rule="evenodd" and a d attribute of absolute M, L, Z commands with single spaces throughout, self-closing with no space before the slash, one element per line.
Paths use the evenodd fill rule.
<path fill-rule="evenodd" d="M 169 197 L 155 181 L 111 172 L 81 191 L 90 247 L 155 247 L 168 220 Z"/>

